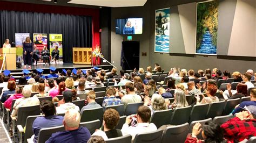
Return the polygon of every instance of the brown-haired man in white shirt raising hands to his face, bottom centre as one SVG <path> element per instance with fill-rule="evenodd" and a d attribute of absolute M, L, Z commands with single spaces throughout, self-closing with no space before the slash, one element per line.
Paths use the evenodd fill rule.
<path fill-rule="evenodd" d="M 140 106 L 137 115 L 130 115 L 126 117 L 125 124 L 122 127 L 123 135 L 131 134 L 132 140 L 138 133 L 146 133 L 156 131 L 157 127 L 153 123 L 149 123 L 151 117 L 151 110 L 147 106 Z M 136 118 L 138 124 L 129 126 L 132 119 Z"/>

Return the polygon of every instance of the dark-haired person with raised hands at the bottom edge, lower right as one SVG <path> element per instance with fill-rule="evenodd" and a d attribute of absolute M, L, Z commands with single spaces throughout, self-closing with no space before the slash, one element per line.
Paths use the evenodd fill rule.
<path fill-rule="evenodd" d="M 216 123 L 207 121 L 201 128 L 200 123 L 196 123 L 193 126 L 192 134 L 188 134 L 185 143 L 196 143 L 196 142 L 225 142 L 224 131 Z M 199 140 L 197 135 L 202 131 L 202 137 L 204 140 Z"/>

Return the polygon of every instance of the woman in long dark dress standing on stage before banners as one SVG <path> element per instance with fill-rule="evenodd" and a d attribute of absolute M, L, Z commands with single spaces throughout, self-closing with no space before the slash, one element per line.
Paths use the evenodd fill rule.
<path fill-rule="evenodd" d="M 33 43 L 31 42 L 30 37 L 26 37 L 26 40 L 23 42 L 24 68 L 26 68 L 26 65 L 29 65 L 29 69 L 31 69 L 32 55 L 33 55 Z"/>

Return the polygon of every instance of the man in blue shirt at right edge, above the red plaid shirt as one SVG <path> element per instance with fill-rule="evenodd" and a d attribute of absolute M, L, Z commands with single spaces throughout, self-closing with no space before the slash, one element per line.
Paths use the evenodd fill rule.
<path fill-rule="evenodd" d="M 245 106 L 250 106 L 250 105 L 256 106 L 256 89 L 251 90 L 250 97 L 251 97 L 251 101 L 244 101 L 244 102 L 240 103 L 239 105 L 237 105 L 237 107 L 232 112 L 232 114 L 234 115 L 235 113 L 241 112 L 242 111 L 241 108 L 244 108 Z"/>

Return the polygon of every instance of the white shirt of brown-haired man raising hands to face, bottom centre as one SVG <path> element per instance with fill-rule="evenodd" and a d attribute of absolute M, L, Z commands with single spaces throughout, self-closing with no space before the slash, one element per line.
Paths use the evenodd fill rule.
<path fill-rule="evenodd" d="M 157 131 L 157 127 L 153 123 L 138 123 L 137 126 L 129 126 L 128 124 L 124 124 L 121 131 L 123 136 L 131 134 L 133 140 L 136 134 Z"/>

